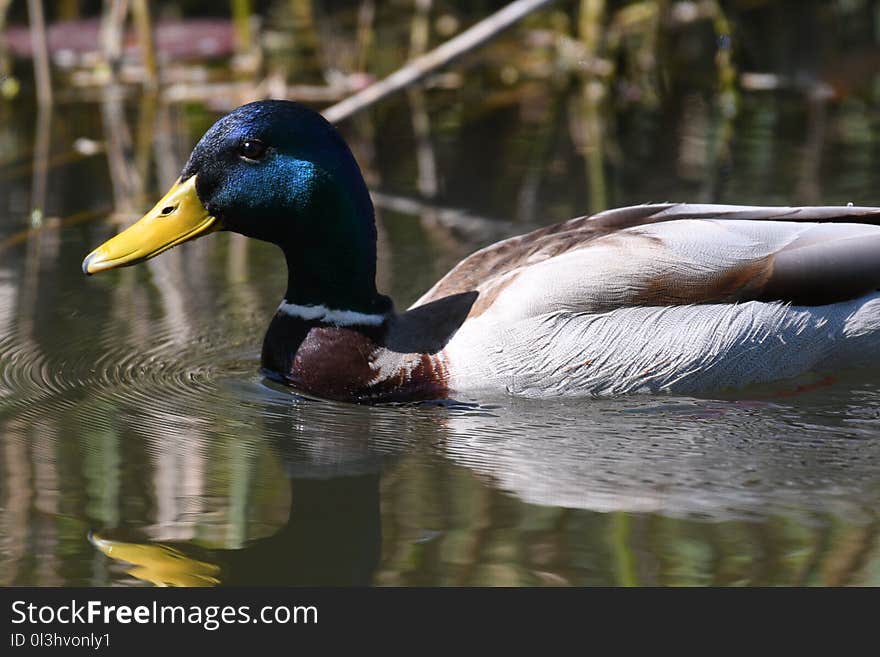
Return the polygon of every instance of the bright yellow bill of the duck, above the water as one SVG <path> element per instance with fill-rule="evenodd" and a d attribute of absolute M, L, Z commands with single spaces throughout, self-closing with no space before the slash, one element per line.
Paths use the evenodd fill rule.
<path fill-rule="evenodd" d="M 87 255 L 83 272 L 96 274 L 143 262 L 218 227 L 199 200 L 196 177 L 178 179 L 152 210 Z"/>

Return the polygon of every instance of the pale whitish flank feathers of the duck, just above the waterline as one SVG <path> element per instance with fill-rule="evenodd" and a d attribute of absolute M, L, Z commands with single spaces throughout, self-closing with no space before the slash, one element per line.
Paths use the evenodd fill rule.
<path fill-rule="evenodd" d="M 475 322 L 446 352 L 449 387 L 539 398 L 716 392 L 876 363 L 878 328 L 877 295 L 818 308 L 749 301 L 551 312 L 488 330 Z"/>

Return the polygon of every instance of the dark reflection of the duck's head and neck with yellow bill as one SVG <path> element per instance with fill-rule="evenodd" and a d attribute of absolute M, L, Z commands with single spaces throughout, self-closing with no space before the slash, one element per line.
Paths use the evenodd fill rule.
<path fill-rule="evenodd" d="M 295 402 L 294 412 L 309 406 L 328 410 L 320 409 L 325 406 L 320 402 Z M 262 434 L 269 437 L 290 486 L 288 517 L 274 534 L 240 549 L 207 549 L 188 541 L 132 539 L 111 529 L 92 533 L 92 544 L 131 564 L 127 574 L 157 586 L 371 584 L 382 543 L 380 475 L 396 448 L 373 445 L 368 436 L 377 427 L 369 418 L 347 435 L 337 428 L 330 439 L 323 428 L 304 429 L 309 424 L 302 417 L 295 418 L 291 434 L 290 418 L 272 411 L 263 414 L 269 425 Z"/>

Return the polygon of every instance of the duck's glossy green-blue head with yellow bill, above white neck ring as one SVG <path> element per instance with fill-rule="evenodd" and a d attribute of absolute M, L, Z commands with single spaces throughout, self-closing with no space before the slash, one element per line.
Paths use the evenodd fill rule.
<path fill-rule="evenodd" d="M 376 227 L 360 168 L 320 114 L 290 101 L 243 105 L 217 121 L 168 193 L 92 251 L 94 274 L 229 230 L 281 247 L 285 300 L 376 312 Z"/>

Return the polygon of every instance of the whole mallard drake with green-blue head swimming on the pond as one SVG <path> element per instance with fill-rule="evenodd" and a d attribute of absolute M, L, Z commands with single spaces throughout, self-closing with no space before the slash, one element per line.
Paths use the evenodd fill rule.
<path fill-rule="evenodd" d="M 268 100 L 217 121 L 171 190 L 87 274 L 230 230 L 281 247 L 272 378 L 353 402 L 698 393 L 873 364 L 880 208 L 652 204 L 470 255 L 405 312 L 376 290 L 376 227 L 339 133 Z"/>

